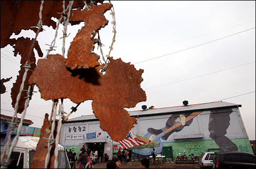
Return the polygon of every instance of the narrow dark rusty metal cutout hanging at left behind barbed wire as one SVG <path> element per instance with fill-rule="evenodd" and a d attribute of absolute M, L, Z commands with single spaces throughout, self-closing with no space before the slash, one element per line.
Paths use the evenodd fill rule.
<path fill-rule="evenodd" d="M 15 107 L 16 98 L 19 93 L 20 84 L 22 83 L 23 75 L 25 72 L 25 68 L 23 66 L 26 64 L 26 61 L 28 60 L 28 53 L 29 53 L 30 47 L 32 45 L 32 42 L 33 42 L 33 39 L 30 40 L 29 38 L 23 38 L 23 37 L 20 37 L 17 40 L 15 40 L 15 39 L 10 40 L 11 45 L 15 44 L 15 46 L 13 46 L 14 56 L 16 57 L 17 53 L 19 53 L 22 57 L 22 59 L 20 60 L 21 66 L 20 66 L 19 74 L 17 75 L 16 82 L 13 83 L 13 87 L 11 90 L 11 98 L 12 98 L 12 107 L 13 108 Z M 42 51 L 41 51 L 37 41 L 35 42 L 34 48 L 36 49 L 39 57 L 42 57 Z M 35 69 L 35 67 L 36 67 L 35 61 L 36 61 L 35 53 L 34 53 L 34 51 L 32 51 L 31 56 L 30 56 L 30 66 L 31 66 L 30 70 Z M 28 90 L 28 87 L 29 87 L 28 79 L 31 74 L 32 74 L 32 71 L 28 71 L 27 78 L 24 83 L 24 90 Z M 22 113 L 24 110 L 26 96 L 27 96 L 27 93 L 25 91 L 22 92 L 22 95 L 19 99 L 18 109 L 17 109 L 17 112 L 19 112 L 19 113 Z"/>

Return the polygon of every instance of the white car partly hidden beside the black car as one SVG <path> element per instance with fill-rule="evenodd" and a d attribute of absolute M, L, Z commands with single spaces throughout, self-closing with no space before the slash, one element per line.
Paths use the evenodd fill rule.
<path fill-rule="evenodd" d="M 200 168 L 212 168 L 214 165 L 214 152 L 204 152 L 199 158 Z"/>

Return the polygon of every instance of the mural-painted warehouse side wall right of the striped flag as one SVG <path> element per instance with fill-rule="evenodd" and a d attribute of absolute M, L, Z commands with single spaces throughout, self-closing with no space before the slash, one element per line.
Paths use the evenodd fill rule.
<path fill-rule="evenodd" d="M 207 151 L 243 151 L 253 154 L 238 108 L 203 111 L 167 134 L 162 133 L 177 124 L 182 116 L 187 118 L 189 115 L 191 112 L 137 118 L 138 124 L 131 132 L 145 142 L 152 135 L 155 137 L 150 144 L 133 147 L 134 158 L 150 156 L 153 148 L 160 154 L 162 147 L 172 147 L 173 157 L 184 151 L 186 155 L 192 152 L 200 155 Z M 150 130 L 155 133 L 150 133 Z M 113 153 L 116 154 L 119 148 L 120 144 L 114 142 Z"/>

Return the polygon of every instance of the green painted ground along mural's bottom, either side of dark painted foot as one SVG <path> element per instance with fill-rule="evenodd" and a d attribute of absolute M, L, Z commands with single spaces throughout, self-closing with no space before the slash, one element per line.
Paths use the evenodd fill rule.
<path fill-rule="evenodd" d="M 237 145 L 238 151 L 248 152 L 253 154 L 250 142 L 248 138 L 236 138 L 231 139 L 231 141 Z M 163 143 L 165 147 L 172 146 L 173 147 L 173 155 L 176 157 L 179 153 L 183 153 L 186 151 L 186 155 L 188 156 L 192 152 L 198 156 L 202 152 L 208 152 L 209 149 L 215 149 L 218 151 L 219 147 L 214 142 L 214 140 L 203 140 L 203 141 L 185 141 L 185 142 L 171 142 L 171 143 Z"/>

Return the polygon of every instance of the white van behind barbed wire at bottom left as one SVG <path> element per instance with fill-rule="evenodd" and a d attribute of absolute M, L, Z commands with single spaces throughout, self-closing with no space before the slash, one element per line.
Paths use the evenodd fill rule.
<path fill-rule="evenodd" d="M 10 159 L 12 162 L 8 168 L 29 168 L 39 137 L 35 136 L 19 136 L 16 146 L 14 147 Z M 4 146 L 1 146 L 1 152 Z M 44 166 L 42 166 L 44 168 Z M 70 168 L 69 160 L 65 149 L 58 145 L 58 168 Z"/>

